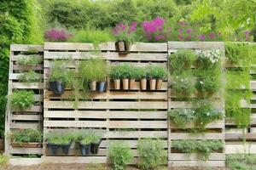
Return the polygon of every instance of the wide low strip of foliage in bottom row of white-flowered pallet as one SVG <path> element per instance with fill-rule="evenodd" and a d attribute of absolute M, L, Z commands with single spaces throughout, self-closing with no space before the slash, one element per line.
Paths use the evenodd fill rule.
<path fill-rule="evenodd" d="M 174 140 L 172 147 L 182 153 L 195 153 L 201 160 L 208 160 L 213 151 L 218 151 L 223 148 L 221 140 Z"/>

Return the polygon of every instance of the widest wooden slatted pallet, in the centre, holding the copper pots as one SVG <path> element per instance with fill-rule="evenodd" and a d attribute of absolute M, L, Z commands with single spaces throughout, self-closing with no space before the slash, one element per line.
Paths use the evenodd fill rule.
<path fill-rule="evenodd" d="M 90 43 L 50 43 L 44 44 L 44 82 L 48 82 L 49 66 L 54 59 L 67 59 L 68 69 L 77 69 L 79 62 L 101 55 L 109 65 L 131 63 L 133 65 L 167 66 L 166 43 L 136 43 L 131 53 L 120 55 L 114 43 L 100 45 L 101 54 L 92 52 Z M 79 148 L 72 146 L 69 156 L 54 156 L 44 145 L 45 162 L 106 162 L 108 145 L 114 140 L 125 140 L 131 145 L 134 163 L 137 161 L 137 140 L 161 138 L 167 149 L 167 80 L 159 91 L 142 91 L 139 82 L 135 90 L 114 90 L 112 80 L 108 79 L 108 89 L 104 93 L 91 92 L 86 101 L 79 101 L 73 108 L 68 99 L 70 89 L 65 94 L 55 95 L 45 84 L 44 92 L 44 133 L 62 128 L 90 127 L 105 131 L 97 155 L 81 156 Z M 65 100 L 65 101 L 64 101 Z"/>

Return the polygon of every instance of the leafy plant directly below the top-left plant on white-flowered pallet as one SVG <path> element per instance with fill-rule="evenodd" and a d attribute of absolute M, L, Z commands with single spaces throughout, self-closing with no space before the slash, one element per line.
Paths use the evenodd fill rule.
<path fill-rule="evenodd" d="M 194 93 L 194 83 L 189 72 L 186 74 L 174 75 L 172 89 L 177 97 L 189 98 Z"/>

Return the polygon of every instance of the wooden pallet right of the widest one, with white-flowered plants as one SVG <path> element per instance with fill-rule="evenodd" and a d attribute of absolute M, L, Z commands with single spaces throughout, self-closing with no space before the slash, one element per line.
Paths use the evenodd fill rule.
<path fill-rule="evenodd" d="M 180 48 L 189 48 L 195 50 L 206 50 L 209 48 L 219 49 L 224 52 L 223 42 L 168 42 L 168 54 L 173 54 Z M 169 62 L 172 62 L 169 61 Z M 195 66 L 192 66 L 195 68 Z M 192 69 L 191 68 L 191 69 Z M 171 83 L 172 78 L 169 79 Z M 176 94 L 173 92 L 172 88 L 169 88 L 168 95 L 168 110 L 175 108 L 193 108 L 191 102 L 187 100 L 177 100 Z M 197 93 L 193 94 L 191 98 L 198 98 Z M 218 97 L 219 98 L 219 97 Z M 224 99 L 215 104 L 219 109 L 224 110 Z M 168 128 L 168 167 L 224 167 L 224 149 L 219 150 L 218 153 L 212 153 L 207 161 L 199 160 L 195 154 L 188 156 L 187 154 L 177 153 L 172 151 L 172 141 L 178 139 L 219 139 L 224 142 L 224 119 L 216 122 L 211 122 L 207 125 L 207 131 L 203 134 L 190 134 L 183 129 L 176 127 L 174 123 L 170 120 Z M 186 128 L 192 127 L 192 125 L 187 125 Z"/>

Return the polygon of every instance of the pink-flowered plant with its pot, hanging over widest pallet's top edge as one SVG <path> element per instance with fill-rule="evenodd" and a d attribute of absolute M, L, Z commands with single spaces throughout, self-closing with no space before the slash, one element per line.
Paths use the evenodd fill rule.
<path fill-rule="evenodd" d="M 129 52 L 131 43 L 135 37 L 137 22 L 132 22 L 130 26 L 119 23 L 113 28 L 113 35 L 116 37 L 115 48 L 118 52 Z"/>

